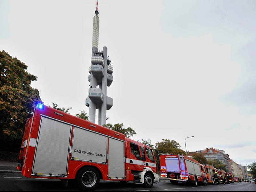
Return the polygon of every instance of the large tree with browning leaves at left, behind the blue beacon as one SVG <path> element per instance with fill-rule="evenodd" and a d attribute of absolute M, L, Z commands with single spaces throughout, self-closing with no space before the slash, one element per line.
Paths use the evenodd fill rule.
<path fill-rule="evenodd" d="M 28 73 L 27 67 L 16 57 L 0 51 L 1 148 L 5 141 L 10 147 L 12 142 L 16 143 L 15 147 L 20 146 L 26 119 L 32 115 L 37 103 L 43 103 L 39 91 L 30 86 L 37 77 Z"/>

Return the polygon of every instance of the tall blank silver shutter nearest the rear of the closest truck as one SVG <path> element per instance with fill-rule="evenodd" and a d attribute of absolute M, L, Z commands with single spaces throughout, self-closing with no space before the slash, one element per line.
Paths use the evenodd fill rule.
<path fill-rule="evenodd" d="M 67 176 L 71 125 L 41 117 L 31 174 Z"/>

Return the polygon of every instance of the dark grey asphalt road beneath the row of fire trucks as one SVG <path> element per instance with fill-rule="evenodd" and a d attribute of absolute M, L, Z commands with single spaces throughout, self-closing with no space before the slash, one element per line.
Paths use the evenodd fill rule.
<path fill-rule="evenodd" d="M 65 187 L 60 180 L 30 179 L 20 173 L 0 173 L 0 191 L 80 191 L 75 186 Z M 186 183 L 171 184 L 169 180 L 161 180 L 152 188 L 143 188 L 141 184 L 119 181 L 101 181 L 96 191 L 256 191 L 256 185 L 242 182 L 193 187 Z"/>

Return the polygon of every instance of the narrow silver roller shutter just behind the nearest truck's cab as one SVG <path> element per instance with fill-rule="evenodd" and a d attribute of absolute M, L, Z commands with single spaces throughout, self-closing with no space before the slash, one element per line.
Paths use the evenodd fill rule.
<path fill-rule="evenodd" d="M 108 177 L 124 179 L 124 141 L 109 138 Z"/>

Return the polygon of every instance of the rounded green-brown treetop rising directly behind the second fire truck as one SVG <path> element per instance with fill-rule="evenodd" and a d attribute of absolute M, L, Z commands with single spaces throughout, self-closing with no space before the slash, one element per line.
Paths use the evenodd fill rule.
<path fill-rule="evenodd" d="M 175 140 L 162 139 L 162 141 L 156 143 L 156 149 L 159 153 L 186 154 L 184 150 L 180 149 L 180 144 Z"/>

